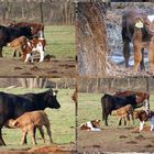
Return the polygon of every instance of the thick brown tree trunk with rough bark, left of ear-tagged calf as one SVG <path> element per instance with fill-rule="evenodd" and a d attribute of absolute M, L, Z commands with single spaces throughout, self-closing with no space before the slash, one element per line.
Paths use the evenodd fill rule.
<path fill-rule="evenodd" d="M 102 2 L 79 2 L 76 37 L 78 72 L 81 76 L 102 77 L 106 74 L 106 25 Z"/>

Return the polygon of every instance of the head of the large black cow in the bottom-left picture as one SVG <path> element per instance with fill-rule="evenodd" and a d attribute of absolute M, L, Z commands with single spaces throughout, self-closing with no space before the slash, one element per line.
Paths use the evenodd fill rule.
<path fill-rule="evenodd" d="M 46 106 L 52 109 L 59 109 L 61 105 L 57 101 L 57 90 L 53 91 L 52 89 L 47 90 L 44 98 Z"/>

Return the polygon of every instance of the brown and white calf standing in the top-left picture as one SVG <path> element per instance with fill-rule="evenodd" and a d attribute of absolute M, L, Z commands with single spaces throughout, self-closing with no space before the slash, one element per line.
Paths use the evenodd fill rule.
<path fill-rule="evenodd" d="M 40 53 L 40 62 L 43 62 L 45 45 L 46 41 L 44 37 L 29 40 L 23 48 L 24 62 L 26 63 L 30 59 L 31 63 L 34 63 L 34 55 L 36 52 Z"/>

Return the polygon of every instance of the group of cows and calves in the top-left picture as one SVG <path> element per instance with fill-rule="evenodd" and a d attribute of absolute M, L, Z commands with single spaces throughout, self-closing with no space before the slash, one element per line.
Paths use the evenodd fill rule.
<path fill-rule="evenodd" d="M 19 22 L 9 26 L 0 25 L 0 57 L 3 46 L 19 51 L 24 62 L 33 63 L 35 52 L 40 53 L 40 62 L 44 59 L 44 25 L 41 23 Z"/>

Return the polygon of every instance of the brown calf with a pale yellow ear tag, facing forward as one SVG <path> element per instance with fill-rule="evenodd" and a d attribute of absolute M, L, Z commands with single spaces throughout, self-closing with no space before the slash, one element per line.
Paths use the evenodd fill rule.
<path fill-rule="evenodd" d="M 153 19 L 154 21 L 154 19 Z M 135 28 L 133 35 L 134 47 L 134 72 L 138 72 L 140 63 L 142 61 L 142 48 L 148 50 L 148 59 L 152 73 L 154 74 L 154 23 L 143 16 L 135 18 Z"/>

